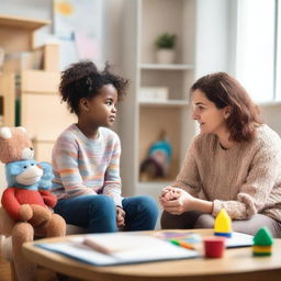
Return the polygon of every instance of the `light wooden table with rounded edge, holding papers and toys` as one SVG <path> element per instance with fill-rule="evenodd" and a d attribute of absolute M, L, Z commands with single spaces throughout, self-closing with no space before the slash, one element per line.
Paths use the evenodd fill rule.
<path fill-rule="evenodd" d="M 193 232 L 203 236 L 213 233 L 211 229 L 193 229 Z M 66 238 L 48 238 L 41 241 L 58 241 Z M 272 256 L 270 257 L 252 257 L 251 247 L 244 247 L 227 249 L 221 259 L 195 258 L 115 267 L 86 265 L 59 254 L 35 247 L 33 243 L 24 244 L 23 249 L 26 258 L 36 265 L 80 280 L 274 281 L 281 278 L 281 239 L 274 240 Z"/>

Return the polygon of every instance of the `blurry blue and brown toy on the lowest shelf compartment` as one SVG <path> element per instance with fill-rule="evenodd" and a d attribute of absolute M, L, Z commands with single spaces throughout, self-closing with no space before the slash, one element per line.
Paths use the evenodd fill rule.
<path fill-rule="evenodd" d="M 169 173 L 172 149 L 167 140 L 167 134 L 162 131 L 159 140 L 148 149 L 147 158 L 140 165 L 140 180 L 166 178 Z"/>

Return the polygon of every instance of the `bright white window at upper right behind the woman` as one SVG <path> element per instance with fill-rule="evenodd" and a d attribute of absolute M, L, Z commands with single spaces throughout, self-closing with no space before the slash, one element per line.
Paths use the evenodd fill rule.
<path fill-rule="evenodd" d="M 278 0 L 238 0 L 237 3 L 236 78 L 256 102 L 281 100 Z"/>

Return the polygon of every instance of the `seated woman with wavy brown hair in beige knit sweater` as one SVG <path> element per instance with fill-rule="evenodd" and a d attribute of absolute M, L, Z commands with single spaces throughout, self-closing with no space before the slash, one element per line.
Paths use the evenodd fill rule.
<path fill-rule="evenodd" d="M 201 134 L 176 181 L 162 190 L 162 228 L 212 228 L 225 209 L 233 229 L 268 226 L 281 237 L 281 139 L 262 124 L 237 80 L 207 75 L 191 88 Z"/>

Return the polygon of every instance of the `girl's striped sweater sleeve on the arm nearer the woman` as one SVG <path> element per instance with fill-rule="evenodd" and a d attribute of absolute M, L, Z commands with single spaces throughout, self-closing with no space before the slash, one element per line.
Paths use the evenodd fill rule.
<path fill-rule="evenodd" d="M 120 178 L 120 157 L 121 157 L 121 144 L 120 138 L 116 137 L 109 166 L 104 175 L 104 186 L 102 193 L 112 198 L 115 205 L 122 206 L 121 196 L 121 178 Z"/>

